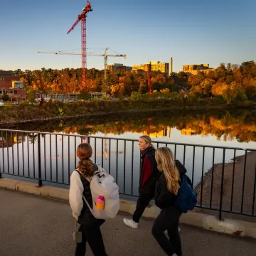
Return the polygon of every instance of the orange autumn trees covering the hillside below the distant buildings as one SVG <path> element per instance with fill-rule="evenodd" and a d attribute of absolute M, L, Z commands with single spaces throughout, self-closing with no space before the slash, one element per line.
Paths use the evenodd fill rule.
<path fill-rule="evenodd" d="M 81 69 L 65 68 L 53 70 L 15 70 L 29 93 L 52 92 L 73 93 L 80 92 Z M 103 70 L 95 68 L 87 70 L 87 86 L 92 92 L 103 91 Z M 234 100 L 256 101 L 256 64 L 253 60 L 241 65 L 225 65 L 218 68 L 190 73 L 171 73 L 169 78 L 160 72 L 151 72 L 151 89 L 153 92 L 178 92 L 179 86 L 186 87 L 195 97 L 220 97 L 230 104 Z M 144 94 L 147 92 L 146 74 L 137 74 L 120 70 L 117 73 L 108 73 L 107 82 L 110 95 L 130 96 L 132 92 Z"/>

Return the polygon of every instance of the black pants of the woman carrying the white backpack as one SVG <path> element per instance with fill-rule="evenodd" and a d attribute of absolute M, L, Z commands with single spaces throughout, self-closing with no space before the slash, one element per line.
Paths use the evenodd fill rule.
<path fill-rule="evenodd" d="M 82 231 L 82 242 L 77 243 L 75 256 L 85 256 L 86 242 L 90 245 L 93 255 L 107 256 L 102 233 L 100 231 L 100 225 L 104 222 L 105 220 L 92 219 L 92 221 L 88 221 L 86 225 L 80 225 L 79 231 Z"/>

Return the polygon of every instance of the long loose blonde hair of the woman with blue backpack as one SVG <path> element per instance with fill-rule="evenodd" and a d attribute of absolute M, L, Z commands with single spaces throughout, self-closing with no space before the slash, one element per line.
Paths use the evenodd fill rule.
<path fill-rule="evenodd" d="M 178 195 L 180 175 L 174 161 L 174 153 L 169 147 L 164 146 L 156 150 L 156 163 L 159 171 L 164 171 L 167 189 L 174 195 Z"/>

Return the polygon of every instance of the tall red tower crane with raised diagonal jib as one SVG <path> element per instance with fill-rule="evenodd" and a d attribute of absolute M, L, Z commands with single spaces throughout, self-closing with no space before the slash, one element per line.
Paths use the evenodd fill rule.
<path fill-rule="evenodd" d="M 82 89 L 87 89 L 87 81 L 86 81 L 86 14 L 92 11 L 91 3 L 90 1 L 87 1 L 87 5 L 85 8 L 82 9 L 81 14 L 78 14 L 78 19 L 75 21 L 73 26 L 70 28 L 68 33 L 73 31 L 75 26 L 78 25 L 79 21 L 81 21 L 81 48 L 82 48 Z M 67 33 L 67 34 L 68 34 Z"/>

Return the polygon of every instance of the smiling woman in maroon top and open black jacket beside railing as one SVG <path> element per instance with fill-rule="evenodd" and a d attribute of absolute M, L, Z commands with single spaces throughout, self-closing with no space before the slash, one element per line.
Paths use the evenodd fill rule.
<path fill-rule="evenodd" d="M 159 171 L 155 159 L 155 149 L 151 145 L 151 138 L 147 135 L 139 137 L 139 149 L 142 150 L 142 169 L 139 178 L 139 199 L 132 220 L 124 218 L 124 224 L 131 228 L 138 228 L 146 206 L 154 198 L 154 190 Z"/>

